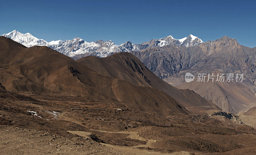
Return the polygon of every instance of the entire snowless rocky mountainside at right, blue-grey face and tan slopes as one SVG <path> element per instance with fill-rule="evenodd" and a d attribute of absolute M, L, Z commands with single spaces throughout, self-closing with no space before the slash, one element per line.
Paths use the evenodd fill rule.
<path fill-rule="evenodd" d="M 236 39 L 223 36 L 194 47 L 166 45 L 131 53 L 164 81 L 180 89 L 192 89 L 226 112 L 238 113 L 256 103 L 255 49 L 242 46 Z M 244 81 L 239 84 L 186 83 L 186 72 L 194 75 L 215 72 L 243 73 Z"/>

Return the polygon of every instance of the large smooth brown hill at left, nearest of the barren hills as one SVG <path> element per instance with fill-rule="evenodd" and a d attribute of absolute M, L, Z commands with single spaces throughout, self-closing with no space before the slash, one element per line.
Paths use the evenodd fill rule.
<path fill-rule="evenodd" d="M 148 113 L 188 114 L 160 90 L 99 74 L 46 46 L 26 48 L 3 36 L 0 44 L 8 46 L 0 47 L 0 82 L 8 91 L 79 94 Z"/>

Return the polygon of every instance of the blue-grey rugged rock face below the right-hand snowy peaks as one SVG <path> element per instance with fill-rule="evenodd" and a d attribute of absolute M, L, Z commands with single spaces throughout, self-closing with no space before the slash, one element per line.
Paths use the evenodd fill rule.
<path fill-rule="evenodd" d="M 187 48 L 166 45 L 140 51 L 130 51 L 130 53 L 139 58 L 149 70 L 161 79 L 188 70 L 207 57 L 199 46 Z"/>

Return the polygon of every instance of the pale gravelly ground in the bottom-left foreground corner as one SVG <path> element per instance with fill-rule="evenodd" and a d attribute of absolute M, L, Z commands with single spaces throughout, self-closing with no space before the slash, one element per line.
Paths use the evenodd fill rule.
<path fill-rule="evenodd" d="M 0 133 L 1 154 L 125 154 L 83 137 L 67 138 L 4 125 Z"/>

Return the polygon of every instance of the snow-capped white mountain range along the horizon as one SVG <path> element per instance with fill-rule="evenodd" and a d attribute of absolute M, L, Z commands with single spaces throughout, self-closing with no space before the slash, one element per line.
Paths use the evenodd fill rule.
<path fill-rule="evenodd" d="M 150 41 L 141 44 L 134 44 L 130 41 L 127 41 L 121 45 L 116 45 L 111 40 L 86 42 L 78 37 L 72 40 L 46 42 L 43 39 L 34 37 L 30 33 L 22 34 L 16 30 L 4 34 L 3 36 L 11 38 L 12 40 L 21 43 L 26 47 L 36 45 L 48 46 L 51 49 L 74 59 L 90 55 L 95 55 L 97 57 L 107 57 L 113 53 L 139 51 L 151 47 L 162 47 L 165 45 L 191 47 L 204 43 L 201 39 L 194 35 L 189 35 L 188 37 L 182 39 L 174 39 L 171 35 L 169 35 L 161 39 L 151 39 Z"/>

